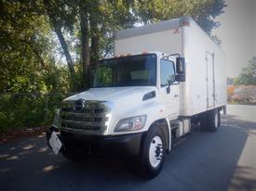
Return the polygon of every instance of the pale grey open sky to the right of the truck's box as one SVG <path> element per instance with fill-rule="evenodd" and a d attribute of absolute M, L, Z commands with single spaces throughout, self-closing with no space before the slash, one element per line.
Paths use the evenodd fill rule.
<path fill-rule="evenodd" d="M 213 31 L 222 40 L 227 75 L 237 77 L 249 59 L 256 57 L 256 0 L 226 0 L 221 26 Z"/>

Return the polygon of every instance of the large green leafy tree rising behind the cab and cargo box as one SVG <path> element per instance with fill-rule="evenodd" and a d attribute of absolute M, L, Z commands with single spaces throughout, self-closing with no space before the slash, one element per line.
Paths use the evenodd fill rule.
<path fill-rule="evenodd" d="M 146 24 L 189 15 L 210 33 L 218 27 L 219 23 L 214 18 L 222 13 L 225 6 L 223 0 L 44 0 L 44 4 L 72 76 L 75 75 L 74 60 L 70 56 L 63 32 L 73 36 L 76 33 L 76 57 L 82 66 L 84 88 L 88 86 L 89 66 L 95 65 L 100 57 L 113 54 L 114 31 L 133 27 L 135 23 Z M 77 23 L 79 28 L 74 32 Z"/>

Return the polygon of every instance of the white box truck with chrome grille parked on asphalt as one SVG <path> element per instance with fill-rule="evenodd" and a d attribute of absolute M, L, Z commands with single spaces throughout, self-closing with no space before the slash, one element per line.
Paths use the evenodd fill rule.
<path fill-rule="evenodd" d="M 225 67 L 220 47 L 191 18 L 116 32 L 115 57 L 99 60 L 88 91 L 62 101 L 49 146 L 68 159 L 134 156 L 140 172 L 155 177 L 192 122 L 217 131 Z"/>

